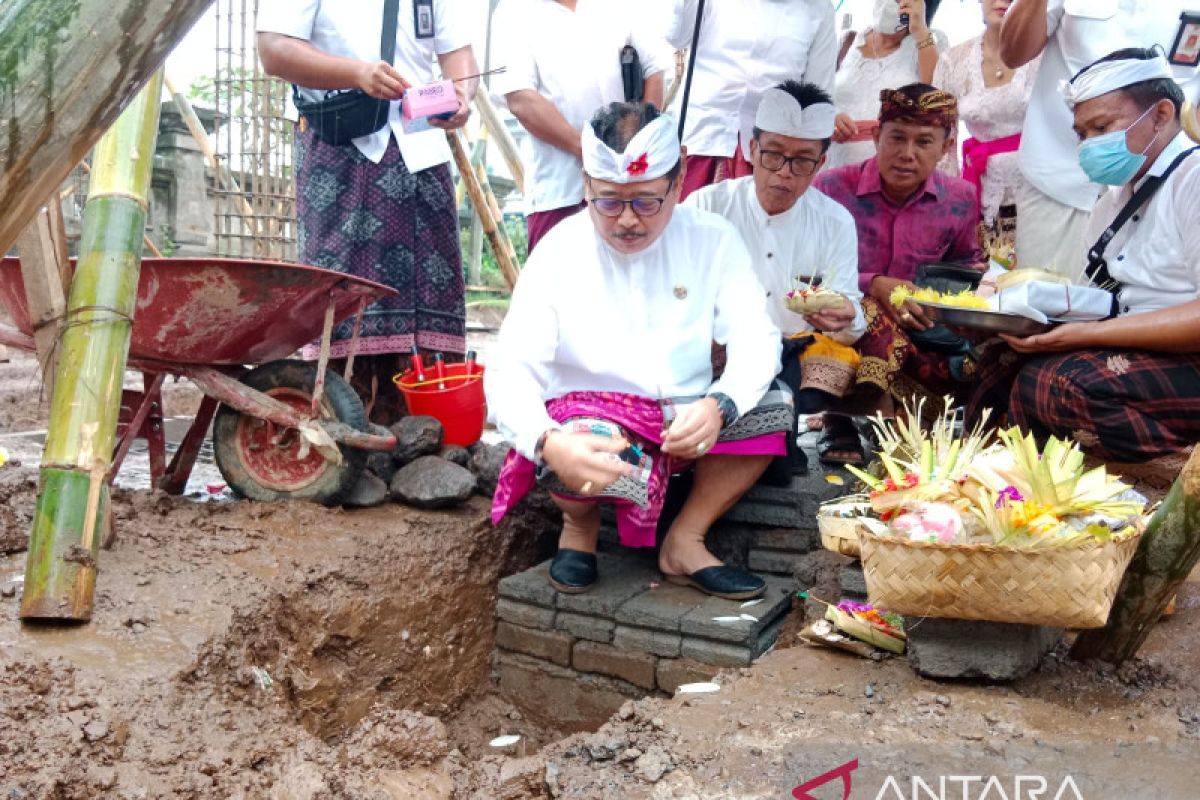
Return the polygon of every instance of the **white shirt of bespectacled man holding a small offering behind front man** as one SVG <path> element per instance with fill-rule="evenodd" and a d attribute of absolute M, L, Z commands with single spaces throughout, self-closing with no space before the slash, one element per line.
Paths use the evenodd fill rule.
<path fill-rule="evenodd" d="M 840 203 L 809 188 L 796 205 L 772 217 L 758 203 L 754 175 L 748 175 L 692 192 L 686 204 L 728 219 L 742 234 L 767 293 L 767 309 L 784 336 L 812 331 L 803 314 L 787 309 L 784 297 L 798 281 L 814 276 L 854 305 L 853 325 L 835 338 L 853 343 L 866 331 L 858 289 L 858 230 Z"/>

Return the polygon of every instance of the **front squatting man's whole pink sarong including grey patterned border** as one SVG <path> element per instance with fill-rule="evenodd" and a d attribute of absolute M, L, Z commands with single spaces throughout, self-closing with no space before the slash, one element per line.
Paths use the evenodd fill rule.
<path fill-rule="evenodd" d="M 784 392 L 773 390 L 754 409 L 721 432 L 708 451 L 715 456 L 782 456 L 787 452 L 786 432 L 792 428 L 793 411 Z M 700 398 L 679 398 L 668 408 Z M 631 444 L 641 447 L 653 459 L 649 480 L 644 487 L 644 505 L 631 497 L 583 497 L 566 491 L 547 488 L 559 497 L 583 503 L 612 503 L 617 511 L 617 533 L 626 547 L 654 547 L 655 530 L 662 512 L 667 480 L 674 473 L 690 468 L 695 459 L 668 456 L 660 450 L 662 428 L 667 415 L 664 404 L 649 397 L 619 392 L 571 392 L 546 403 L 546 410 L 557 422 L 576 417 L 595 417 L 614 422 L 629 432 Z M 667 411 L 670 414 L 670 411 Z M 500 469 L 500 477 L 492 499 L 492 523 L 499 523 L 536 482 L 532 461 L 509 452 Z M 562 485 L 557 485 L 562 489 Z M 637 500 L 642 498 L 638 497 Z"/>

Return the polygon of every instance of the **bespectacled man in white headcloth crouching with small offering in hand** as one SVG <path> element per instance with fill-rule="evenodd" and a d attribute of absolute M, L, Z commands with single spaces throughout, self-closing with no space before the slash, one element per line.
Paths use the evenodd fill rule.
<path fill-rule="evenodd" d="M 859 361 L 848 345 L 866 330 L 854 218 L 840 203 L 809 191 L 824 166 L 835 118 L 833 100 L 814 84 L 787 80 L 768 89 L 750 140 L 754 173 L 686 200 L 728 219 L 749 247 L 767 309 L 786 339 L 780 377 L 794 392 L 798 414 L 826 411 L 846 393 Z M 814 285 L 835 294 L 788 297 Z M 822 455 L 838 456 L 847 437 L 859 446 L 848 417 L 827 415 L 826 425 Z M 792 471 L 806 470 L 794 437 L 788 450 L 792 469 L 773 465 L 769 482 L 787 483 Z"/>

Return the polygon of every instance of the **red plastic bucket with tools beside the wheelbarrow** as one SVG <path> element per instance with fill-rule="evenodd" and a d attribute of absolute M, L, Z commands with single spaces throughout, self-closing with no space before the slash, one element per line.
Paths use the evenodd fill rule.
<path fill-rule="evenodd" d="M 487 401 L 484 398 L 484 365 L 473 365 L 468 374 L 466 363 L 445 365 L 444 389 L 438 389 L 432 366 L 425 368 L 425 380 L 418 380 L 412 369 L 392 378 L 400 393 L 404 396 L 408 413 L 414 416 L 432 416 L 445 431 L 443 441 L 466 447 L 479 441 L 487 420 Z"/>

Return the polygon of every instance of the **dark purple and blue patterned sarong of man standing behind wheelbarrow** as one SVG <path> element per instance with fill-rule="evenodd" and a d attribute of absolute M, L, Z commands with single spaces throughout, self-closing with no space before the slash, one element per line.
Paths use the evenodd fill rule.
<path fill-rule="evenodd" d="M 398 295 L 367 307 L 362 355 L 466 350 L 458 219 L 450 168 L 413 174 L 395 139 L 378 164 L 312 130 L 295 133 L 300 260 L 389 285 Z M 350 317 L 334 330 L 332 357 L 349 353 Z M 307 357 L 316 349 L 307 348 Z"/>

